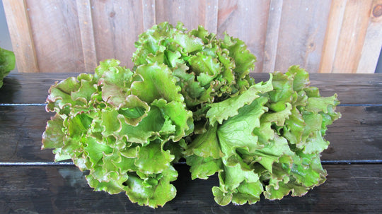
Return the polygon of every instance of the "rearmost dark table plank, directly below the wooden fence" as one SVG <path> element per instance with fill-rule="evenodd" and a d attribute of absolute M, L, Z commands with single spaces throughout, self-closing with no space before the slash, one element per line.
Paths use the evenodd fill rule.
<path fill-rule="evenodd" d="M 1 103 L 44 103 L 50 85 L 79 73 L 10 73 L 0 88 Z M 251 73 L 255 81 L 267 81 L 268 73 Z M 311 73 L 311 85 L 323 96 L 337 93 L 343 105 L 381 105 L 382 74 Z"/>

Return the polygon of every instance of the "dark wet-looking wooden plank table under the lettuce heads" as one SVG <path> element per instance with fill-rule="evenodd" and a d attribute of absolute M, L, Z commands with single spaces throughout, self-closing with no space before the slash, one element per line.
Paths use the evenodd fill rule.
<path fill-rule="evenodd" d="M 88 187 L 71 162 L 53 162 L 40 150 L 42 132 L 53 115 L 45 112 L 48 88 L 76 73 L 11 73 L 0 89 L 0 213 L 381 213 L 382 75 L 311 74 L 321 95 L 337 93 L 342 119 L 329 126 L 330 147 L 322 154 L 328 177 L 301 198 L 264 198 L 254 205 L 218 206 L 207 181 L 190 179 L 178 164 L 178 194 L 156 210 Z M 257 81 L 266 73 L 256 73 Z"/>

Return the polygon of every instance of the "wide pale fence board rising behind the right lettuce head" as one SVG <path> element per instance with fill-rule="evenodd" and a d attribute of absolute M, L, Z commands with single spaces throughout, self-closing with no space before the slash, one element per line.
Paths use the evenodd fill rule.
<path fill-rule="evenodd" d="M 277 71 L 298 64 L 318 72 L 331 1 L 284 0 L 277 47 Z"/>

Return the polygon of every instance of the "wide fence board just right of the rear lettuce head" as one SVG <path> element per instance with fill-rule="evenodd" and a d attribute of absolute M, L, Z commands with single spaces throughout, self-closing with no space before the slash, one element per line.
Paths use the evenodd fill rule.
<path fill-rule="evenodd" d="M 228 32 L 248 45 L 257 57 L 254 72 L 262 72 L 269 8 L 270 1 L 219 1 L 217 33 Z"/>

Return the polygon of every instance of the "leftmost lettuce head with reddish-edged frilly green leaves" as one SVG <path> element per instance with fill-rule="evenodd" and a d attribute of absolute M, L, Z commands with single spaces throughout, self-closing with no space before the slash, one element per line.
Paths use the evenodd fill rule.
<path fill-rule="evenodd" d="M 55 148 L 55 160 L 71 158 L 88 170 L 96 191 L 125 191 L 140 205 L 163 206 L 175 197 L 170 182 L 180 157 L 172 150 L 192 132 L 192 112 L 167 67 L 151 64 L 132 73 L 118 64 L 106 60 L 94 75 L 52 85 L 47 111 L 57 113 L 47 122 L 42 148 Z M 158 85 L 163 90 L 154 89 Z"/>

